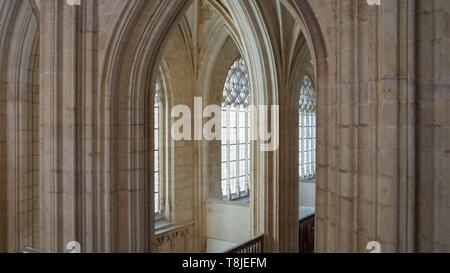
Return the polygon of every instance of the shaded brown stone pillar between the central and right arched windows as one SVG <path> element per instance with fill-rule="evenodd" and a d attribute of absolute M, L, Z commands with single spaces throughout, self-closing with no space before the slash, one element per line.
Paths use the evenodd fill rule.
<path fill-rule="evenodd" d="M 303 80 L 311 65 L 303 35 L 297 43 L 299 56 L 293 61 L 295 69 L 280 76 L 286 77 L 286 80 L 280 80 L 286 84 L 279 89 L 279 251 L 293 253 L 298 253 L 299 247 L 299 100 Z"/>

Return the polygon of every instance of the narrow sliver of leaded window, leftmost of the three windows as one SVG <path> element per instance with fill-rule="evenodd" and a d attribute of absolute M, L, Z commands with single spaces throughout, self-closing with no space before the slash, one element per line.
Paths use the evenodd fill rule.
<path fill-rule="evenodd" d="M 154 175 L 155 175 L 155 214 L 161 214 L 161 172 L 160 172 L 160 110 L 161 110 L 161 83 L 158 80 L 155 85 L 155 104 L 154 104 Z"/>

